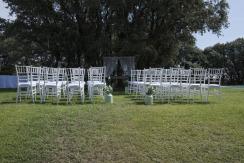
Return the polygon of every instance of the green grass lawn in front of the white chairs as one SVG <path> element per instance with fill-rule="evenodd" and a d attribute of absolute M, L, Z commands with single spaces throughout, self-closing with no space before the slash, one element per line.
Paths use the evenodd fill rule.
<path fill-rule="evenodd" d="M 209 104 L 15 104 L 0 91 L 0 162 L 244 162 L 244 89 Z"/>

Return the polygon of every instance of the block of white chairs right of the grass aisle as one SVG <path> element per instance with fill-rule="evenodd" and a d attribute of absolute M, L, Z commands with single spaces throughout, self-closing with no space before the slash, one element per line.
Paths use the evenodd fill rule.
<path fill-rule="evenodd" d="M 143 98 L 149 87 L 154 87 L 154 98 L 161 101 L 208 101 L 214 90 L 220 95 L 223 69 L 182 69 L 150 68 L 132 70 L 129 81 L 129 93 Z M 213 89 L 211 89 L 213 88 Z M 200 98 L 198 98 L 200 97 Z"/>

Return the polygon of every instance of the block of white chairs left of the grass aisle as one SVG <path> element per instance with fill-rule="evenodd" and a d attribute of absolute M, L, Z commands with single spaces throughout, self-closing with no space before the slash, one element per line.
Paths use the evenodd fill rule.
<path fill-rule="evenodd" d="M 17 74 L 16 102 L 21 98 L 31 97 L 33 103 L 36 96 L 45 102 L 49 96 L 56 97 L 57 103 L 63 96 L 71 102 L 73 96 L 85 99 L 85 69 L 83 68 L 51 68 L 33 66 L 15 66 Z M 105 67 L 88 69 L 88 96 L 90 100 L 96 95 L 103 96 L 105 83 Z"/>

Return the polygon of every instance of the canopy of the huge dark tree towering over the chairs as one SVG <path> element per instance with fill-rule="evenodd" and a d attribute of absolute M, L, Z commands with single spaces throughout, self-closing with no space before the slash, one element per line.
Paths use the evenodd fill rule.
<path fill-rule="evenodd" d="M 28 64 L 87 67 L 130 55 L 139 68 L 173 66 L 194 33 L 228 26 L 226 0 L 3 1 L 16 15 L 0 21 L 4 42 L 18 48 L 7 51 Z"/>

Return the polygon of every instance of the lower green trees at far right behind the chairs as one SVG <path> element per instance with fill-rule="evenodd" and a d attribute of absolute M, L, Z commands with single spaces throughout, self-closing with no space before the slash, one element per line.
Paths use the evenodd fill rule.
<path fill-rule="evenodd" d="M 225 84 L 244 83 L 244 39 L 216 44 L 204 50 L 182 44 L 176 63 L 185 68 L 224 68 Z"/>

